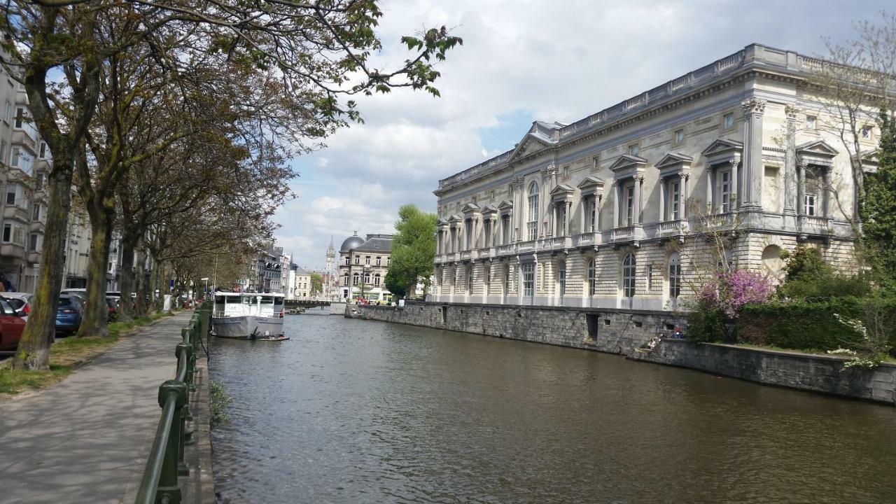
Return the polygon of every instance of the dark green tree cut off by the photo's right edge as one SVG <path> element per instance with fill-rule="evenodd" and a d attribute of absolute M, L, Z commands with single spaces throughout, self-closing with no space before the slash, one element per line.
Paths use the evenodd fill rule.
<path fill-rule="evenodd" d="M 875 280 L 896 294 L 896 120 L 885 110 L 880 119 L 877 169 L 866 175 L 862 239 Z"/>

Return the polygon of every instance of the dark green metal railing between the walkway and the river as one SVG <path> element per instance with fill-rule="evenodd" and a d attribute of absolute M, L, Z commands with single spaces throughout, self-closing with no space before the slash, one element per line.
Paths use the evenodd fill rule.
<path fill-rule="evenodd" d="M 190 474 L 184 462 L 185 446 L 196 442 L 193 432 L 186 430 L 190 413 L 190 394 L 195 391 L 196 350 L 202 338 L 209 335 L 211 301 L 198 305 L 190 322 L 181 330 L 177 343 L 177 375 L 159 387 L 159 406 L 162 417 L 152 441 L 149 460 L 143 471 L 136 504 L 180 504 L 179 476 Z"/>

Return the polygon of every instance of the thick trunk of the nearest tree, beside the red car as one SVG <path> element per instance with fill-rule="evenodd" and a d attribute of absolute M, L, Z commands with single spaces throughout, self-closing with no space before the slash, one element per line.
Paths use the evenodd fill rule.
<path fill-rule="evenodd" d="M 40 254 L 38 285 L 31 299 L 28 324 L 12 361 L 13 369 L 49 369 L 50 346 L 56 337 L 56 308 L 65 264 L 68 213 L 72 206 L 72 163 L 59 152 L 49 175 L 47 225 Z"/>

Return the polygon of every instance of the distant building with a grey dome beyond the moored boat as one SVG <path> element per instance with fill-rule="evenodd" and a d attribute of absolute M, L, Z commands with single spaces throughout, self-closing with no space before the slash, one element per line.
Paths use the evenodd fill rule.
<path fill-rule="evenodd" d="M 392 292 L 385 288 L 390 256 L 392 235 L 368 234 L 364 239 L 355 231 L 345 239 L 339 249 L 340 297 L 392 302 Z"/>

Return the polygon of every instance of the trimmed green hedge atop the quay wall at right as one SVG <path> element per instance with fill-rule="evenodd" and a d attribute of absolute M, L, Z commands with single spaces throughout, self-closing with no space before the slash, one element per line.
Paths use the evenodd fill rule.
<path fill-rule="evenodd" d="M 737 319 L 737 339 L 745 343 L 777 346 L 803 351 L 827 351 L 848 346 L 844 336 L 849 328 L 834 317 L 864 319 L 866 300 L 835 298 L 825 302 L 770 302 L 745 306 Z M 896 300 L 883 301 L 892 320 Z M 896 343 L 896 327 L 890 326 L 890 340 Z"/>

